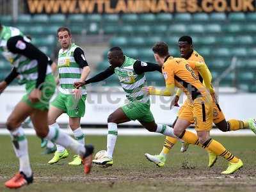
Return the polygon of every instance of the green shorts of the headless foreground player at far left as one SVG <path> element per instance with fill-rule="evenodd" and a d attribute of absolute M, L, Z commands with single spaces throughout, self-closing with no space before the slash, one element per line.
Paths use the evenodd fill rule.
<path fill-rule="evenodd" d="M 35 89 L 36 81 L 29 81 L 26 83 L 26 95 L 22 97 L 22 102 L 26 102 L 31 108 L 40 109 L 42 111 L 49 109 L 49 102 L 52 98 L 52 95 L 55 92 L 56 83 L 52 74 L 49 74 L 45 77 L 44 84 L 42 85 L 42 97 L 40 101 L 32 103 L 28 97 L 29 94 Z"/>

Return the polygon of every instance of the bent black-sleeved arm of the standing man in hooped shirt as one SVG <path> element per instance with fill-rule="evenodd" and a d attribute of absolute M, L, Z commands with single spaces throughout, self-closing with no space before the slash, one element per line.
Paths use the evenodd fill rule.
<path fill-rule="evenodd" d="M 90 67 L 85 59 L 84 52 L 81 48 L 77 47 L 74 51 L 74 59 L 79 67 L 82 68 L 80 81 L 83 82 L 90 74 Z"/>

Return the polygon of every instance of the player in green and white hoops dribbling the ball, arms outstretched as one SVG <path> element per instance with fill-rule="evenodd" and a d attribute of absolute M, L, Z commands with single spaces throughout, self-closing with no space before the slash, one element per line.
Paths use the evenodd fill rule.
<path fill-rule="evenodd" d="M 113 151 L 117 138 L 118 124 L 138 120 L 150 132 L 159 132 L 166 136 L 177 138 L 173 134 L 172 127 L 155 123 L 150 111 L 149 97 L 141 90 L 146 84 L 145 72 L 155 70 L 161 72 L 161 67 L 154 63 L 145 63 L 124 56 L 120 47 L 113 47 L 109 50 L 108 60 L 110 67 L 104 72 L 84 82 L 75 83 L 75 86 L 79 87 L 84 84 L 102 81 L 115 73 L 129 100 L 129 104 L 116 109 L 108 116 L 107 154 L 100 159 L 93 160 L 93 163 L 102 166 L 111 166 L 113 164 Z"/>

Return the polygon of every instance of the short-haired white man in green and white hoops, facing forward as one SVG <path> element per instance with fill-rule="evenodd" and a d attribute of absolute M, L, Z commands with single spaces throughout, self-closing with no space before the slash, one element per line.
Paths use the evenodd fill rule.
<path fill-rule="evenodd" d="M 73 84 L 76 81 L 84 81 L 90 73 L 90 67 L 84 57 L 83 50 L 76 44 L 72 44 L 72 36 L 68 28 L 58 29 L 58 40 L 61 45 L 58 56 L 60 93 L 51 103 L 49 109 L 49 127 L 59 128 L 60 126 L 56 123 L 57 118 L 62 113 L 67 113 L 69 126 L 74 133 L 74 137 L 84 145 L 84 134 L 80 127 L 80 120 L 85 112 L 86 89 L 84 86 L 76 89 Z M 57 145 L 54 157 L 48 163 L 57 163 L 67 156 L 67 149 Z M 81 163 L 81 157 L 76 155 L 74 160 L 68 164 L 79 165 Z"/>

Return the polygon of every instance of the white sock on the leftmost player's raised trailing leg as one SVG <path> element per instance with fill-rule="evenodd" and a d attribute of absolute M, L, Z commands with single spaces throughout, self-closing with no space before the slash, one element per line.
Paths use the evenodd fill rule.
<path fill-rule="evenodd" d="M 49 132 L 46 139 L 65 148 L 69 147 L 80 156 L 85 154 L 84 145 L 71 138 L 67 133 L 61 131 L 61 129 L 58 129 L 57 123 L 49 126 Z"/>

